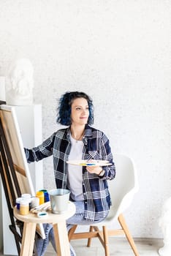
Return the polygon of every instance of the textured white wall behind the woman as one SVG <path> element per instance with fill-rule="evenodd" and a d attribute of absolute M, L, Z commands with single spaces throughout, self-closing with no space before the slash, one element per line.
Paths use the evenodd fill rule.
<path fill-rule="evenodd" d="M 31 60 L 43 138 L 59 128 L 61 94 L 90 94 L 95 127 L 113 154 L 137 165 L 140 191 L 125 215 L 130 230 L 161 237 L 161 206 L 171 195 L 170 0 L 1 0 L 0 10 L 0 75 L 15 59 Z M 44 161 L 47 188 L 54 186 L 51 160 Z"/>

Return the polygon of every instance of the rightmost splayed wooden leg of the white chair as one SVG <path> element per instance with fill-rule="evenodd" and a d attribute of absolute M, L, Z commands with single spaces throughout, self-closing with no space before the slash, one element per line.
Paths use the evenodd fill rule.
<path fill-rule="evenodd" d="M 118 222 L 120 223 L 121 227 L 123 228 L 123 231 L 124 231 L 124 233 L 126 235 L 126 238 L 129 241 L 130 246 L 132 247 L 134 255 L 135 256 L 139 256 L 139 253 L 137 251 L 137 247 L 134 244 L 134 239 L 132 238 L 132 235 L 129 232 L 129 229 L 128 229 L 127 225 L 126 225 L 125 219 L 123 218 L 122 214 L 119 215 Z"/>

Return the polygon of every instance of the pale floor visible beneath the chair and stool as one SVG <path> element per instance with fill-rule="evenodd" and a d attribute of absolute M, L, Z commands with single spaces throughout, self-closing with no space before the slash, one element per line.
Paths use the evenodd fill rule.
<path fill-rule="evenodd" d="M 134 238 L 140 256 L 159 256 L 158 250 L 163 246 L 161 239 Z M 104 256 L 104 249 L 97 238 L 86 247 L 86 240 L 72 241 L 77 256 Z M 2 254 L 0 253 L 0 256 Z M 45 256 L 55 256 L 52 246 L 48 246 Z M 110 238 L 110 256 L 134 256 L 131 247 L 125 238 Z"/>

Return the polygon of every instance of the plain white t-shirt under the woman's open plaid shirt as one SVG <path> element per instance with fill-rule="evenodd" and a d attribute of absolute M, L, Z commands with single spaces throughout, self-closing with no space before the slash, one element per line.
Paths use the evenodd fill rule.
<path fill-rule="evenodd" d="M 82 159 L 83 141 L 75 140 L 70 135 L 72 148 L 69 160 Z M 68 165 L 68 184 L 73 200 L 83 200 L 83 167 L 79 165 Z"/>

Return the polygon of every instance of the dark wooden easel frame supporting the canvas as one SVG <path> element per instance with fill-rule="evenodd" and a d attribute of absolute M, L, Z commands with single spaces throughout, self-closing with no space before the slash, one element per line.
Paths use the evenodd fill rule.
<path fill-rule="evenodd" d="M 0 105 L 5 104 L 5 102 L 0 101 Z M 9 146 L 4 134 L 4 129 L 0 117 L 0 173 L 1 181 L 4 187 L 4 194 L 7 200 L 7 207 L 9 211 L 9 218 L 11 225 L 9 229 L 12 231 L 15 236 L 15 244 L 18 249 L 18 255 L 20 255 L 20 243 L 21 243 L 21 234 L 22 234 L 22 225 L 18 225 L 20 233 L 18 233 L 15 217 L 13 215 L 13 207 L 15 206 L 15 200 L 17 197 L 20 197 L 20 187 L 18 184 L 18 178 L 15 173 L 14 165 L 12 162 L 12 156 L 9 151 Z"/>

